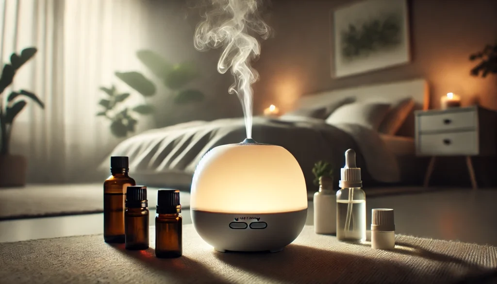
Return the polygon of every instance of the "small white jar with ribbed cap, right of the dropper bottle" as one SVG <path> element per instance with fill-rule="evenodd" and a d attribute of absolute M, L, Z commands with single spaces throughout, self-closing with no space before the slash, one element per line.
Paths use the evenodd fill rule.
<path fill-rule="evenodd" d="M 373 209 L 371 247 L 387 250 L 395 247 L 394 209 Z"/>

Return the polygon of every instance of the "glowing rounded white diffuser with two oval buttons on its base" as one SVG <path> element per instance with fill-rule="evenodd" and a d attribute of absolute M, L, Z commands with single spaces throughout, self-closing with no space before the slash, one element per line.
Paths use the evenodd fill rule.
<path fill-rule="evenodd" d="M 307 218 L 304 174 L 285 148 L 245 139 L 213 148 L 193 175 L 193 226 L 215 250 L 280 251 Z"/>

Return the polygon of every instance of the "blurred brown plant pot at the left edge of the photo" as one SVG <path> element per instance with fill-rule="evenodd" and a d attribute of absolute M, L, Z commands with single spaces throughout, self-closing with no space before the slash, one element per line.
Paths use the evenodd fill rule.
<path fill-rule="evenodd" d="M 21 155 L 0 155 L 0 188 L 26 185 L 27 161 Z"/>

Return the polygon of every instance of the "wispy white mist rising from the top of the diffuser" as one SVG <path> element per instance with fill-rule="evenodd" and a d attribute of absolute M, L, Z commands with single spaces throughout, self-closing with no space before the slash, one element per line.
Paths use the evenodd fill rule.
<path fill-rule="evenodd" d="M 266 39 L 270 28 L 257 11 L 260 0 L 209 0 L 210 8 L 195 30 L 194 44 L 198 50 L 223 48 L 217 69 L 224 74 L 231 68 L 235 82 L 230 94 L 237 94 L 245 117 L 247 138 L 252 138 L 252 88 L 259 79 L 250 67 L 250 60 L 260 54 L 260 46 L 253 31 Z"/>

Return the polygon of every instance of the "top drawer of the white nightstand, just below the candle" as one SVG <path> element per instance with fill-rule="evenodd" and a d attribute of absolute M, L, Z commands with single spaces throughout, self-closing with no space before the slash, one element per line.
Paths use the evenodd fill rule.
<path fill-rule="evenodd" d="M 417 131 L 443 131 L 453 129 L 475 128 L 477 125 L 476 111 L 458 111 L 420 115 Z"/>

